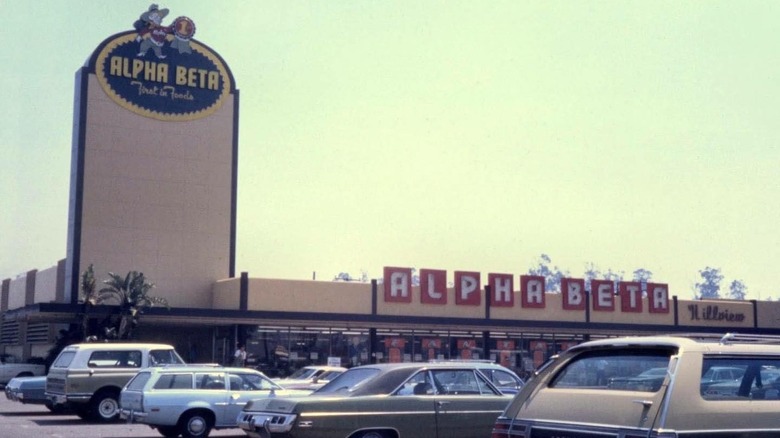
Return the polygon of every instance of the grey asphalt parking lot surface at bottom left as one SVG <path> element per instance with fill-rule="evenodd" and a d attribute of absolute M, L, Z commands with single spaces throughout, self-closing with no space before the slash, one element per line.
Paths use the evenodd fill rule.
<path fill-rule="evenodd" d="M 149 426 L 121 422 L 86 423 L 75 415 L 54 415 L 41 405 L 25 405 L 10 401 L 2 394 L 0 394 L 0 436 L 3 438 L 161 438 L 161 435 Z M 209 436 L 246 437 L 239 429 L 212 431 Z"/>

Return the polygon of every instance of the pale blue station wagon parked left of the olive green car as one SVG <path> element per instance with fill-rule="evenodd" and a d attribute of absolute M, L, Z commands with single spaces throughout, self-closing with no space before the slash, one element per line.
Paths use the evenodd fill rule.
<path fill-rule="evenodd" d="M 212 429 L 238 427 L 236 418 L 250 400 L 310 392 L 286 390 L 248 368 L 152 367 L 139 371 L 122 390 L 120 416 L 148 424 L 164 437 L 206 437 Z"/>

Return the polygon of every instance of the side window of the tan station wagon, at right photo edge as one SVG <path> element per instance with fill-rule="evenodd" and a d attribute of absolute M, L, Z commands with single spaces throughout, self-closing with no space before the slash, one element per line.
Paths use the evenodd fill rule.
<path fill-rule="evenodd" d="M 732 376 L 738 376 L 731 378 Z M 719 380 L 715 380 L 719 377 Z M 780 400 L 780 360 L 705 357 L 701 396 L 705 400 Z"/>

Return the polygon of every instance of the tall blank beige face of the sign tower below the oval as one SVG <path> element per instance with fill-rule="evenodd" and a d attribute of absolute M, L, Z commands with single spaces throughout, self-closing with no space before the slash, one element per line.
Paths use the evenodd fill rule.
<path fill-rule="evenodd" d="M 233 96 L 216 113 L 163 122 L 87 92 L 81 260 L 98 279 L 143 272 L 152 295 L 209 307 L 229 276 Z"/>

